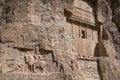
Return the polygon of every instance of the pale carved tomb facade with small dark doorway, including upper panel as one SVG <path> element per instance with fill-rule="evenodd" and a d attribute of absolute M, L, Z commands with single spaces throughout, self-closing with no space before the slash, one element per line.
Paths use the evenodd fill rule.
<path fill-rule="evenodd" d="M 81 57 L 94 57 L 98 52 L 98 27 L 95 25 L 94 1 L 74 0 L 64 10 L 65 33 L 75 40 L 75 50 Z"/>

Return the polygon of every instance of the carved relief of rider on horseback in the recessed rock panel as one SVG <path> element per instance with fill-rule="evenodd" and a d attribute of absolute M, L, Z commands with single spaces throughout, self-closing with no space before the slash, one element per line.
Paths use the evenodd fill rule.
<path fill-rule="evenodd" d="M 41 72 L 44 73 L 46 69 L 46 62 L 42 58 L 40 53 L 39 46 L 35 47 L 35 54 L 29 54 L 25 56 L 25 62 L 30 69 L 30 72 L 36 73 Z"/>

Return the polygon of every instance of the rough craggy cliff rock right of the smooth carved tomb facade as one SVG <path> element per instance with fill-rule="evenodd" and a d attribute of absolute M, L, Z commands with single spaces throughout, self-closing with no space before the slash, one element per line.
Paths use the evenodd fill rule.
<path fill-rule="evenodd" d="M 102 66 L 102 72 L 103 72 L 103 80 L 119 80 L 120 76 L 119 74 L 119 40 L 120 40 L 120 33 L 119 33 L 119 23 L 118 19 L 119 12 L 119 0 L 117 2 L 114 2 L 113 0 L 109 1 L 101 1 L 104 5 L 102 6 L 102 13 L 103 18 L 106 19 L 106 21 L 103 22 L 104 28 L 107 29 L 109 35 L 111 36 L 110 44 L 113 45 L 113 48 L 110 48 L 111 45 L 109 45 L 107 48 L 109 48 L 109 56 L 107 59 L 100 59 L 99 63 Z M 110 15 L 110 16 L 109 16 Z M 108 44 L 104 44 L 108 45 Z M 114 50 L 113 50 L 114 49 Z M 113 52 L 115 51 L 115 52 Z M 103 63 L 102 63 L 103 62 Z M 111 76 L 110 76 L 111 75 Z"/>

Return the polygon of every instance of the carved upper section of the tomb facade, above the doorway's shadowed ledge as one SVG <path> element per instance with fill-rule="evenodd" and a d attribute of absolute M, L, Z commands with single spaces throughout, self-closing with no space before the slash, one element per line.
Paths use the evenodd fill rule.
<path fill-rule="evenodd" d="M 74 0 L 73 5 L 65 9 L 66 18 L 95 26 L 94 2 L 86 0 Z"/>

